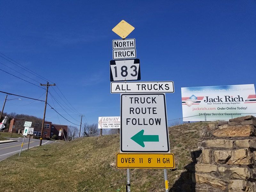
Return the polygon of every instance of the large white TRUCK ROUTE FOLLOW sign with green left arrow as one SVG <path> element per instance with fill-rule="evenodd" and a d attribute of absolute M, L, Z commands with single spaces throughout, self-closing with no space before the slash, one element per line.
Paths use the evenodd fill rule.
<path fill-rule="evenodd" d="M 165 94 L 121 94 L 121 152 L 168 153 Z"/>

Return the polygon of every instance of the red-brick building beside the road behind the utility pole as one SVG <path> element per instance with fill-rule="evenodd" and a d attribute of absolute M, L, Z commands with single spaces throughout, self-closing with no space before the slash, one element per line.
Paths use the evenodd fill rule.
<path fill-rule="evenodd" d="M 13 133 L 18 133 L 18 130 L 24 130 L 24 122 L 26 119 L 20 119 L 20 118 L 13 118 L 10 122 L 9 126 L 9 132 L 12 132 L 12 126 L 14 126 Z M 32 124 L 33 127 L 33 124 Z M 59 137 L 59 131 L 62 128 L 63 132 L 61 133 L 61 136 Z M 34 134 L 37 137 L 41 136 L 41 128 L 34 129 Z M 58 125 L 58 124 L 52 124 L 50 121 L 44 122 L 44 134 L 43 138 L 51 138 L 53 135 L 57 135 L 60 140 L 67 139 L 68 135 L 68 125 Z M 65 138 L 64 138 L 65 136 Z"/>

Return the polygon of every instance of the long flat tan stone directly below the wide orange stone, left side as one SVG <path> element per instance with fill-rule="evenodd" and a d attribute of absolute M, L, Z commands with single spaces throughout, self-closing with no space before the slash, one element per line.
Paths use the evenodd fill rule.
<path fill-rule="evenodd" d="M 215 139 L 215 140 L 206 140 L 202 142 L 202 147 L 207 148 L 233 148 L 233 140 L 228 139 Z"/>

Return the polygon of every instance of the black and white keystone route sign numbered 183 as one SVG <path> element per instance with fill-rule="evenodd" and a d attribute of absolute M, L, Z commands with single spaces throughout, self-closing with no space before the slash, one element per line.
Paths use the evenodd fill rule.
<path fill-rule="evenodd" d="M 140 60 L 111 60 L 110 81 L 140 80 Z"/>

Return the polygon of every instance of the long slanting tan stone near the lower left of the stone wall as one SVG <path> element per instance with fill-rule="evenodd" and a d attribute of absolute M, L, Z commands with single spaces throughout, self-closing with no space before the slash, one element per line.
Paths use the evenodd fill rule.
<path fill-rule="evenodd" d="M 208 174 L 199 174 L 195 173 L 196 185 L 197 184 L 207 184 L 214 188 L 221 189 L 225 191 L 228 187 L 228 182 L 226 180 L 221 180 L 215 177 L 212 177 Z"/>

